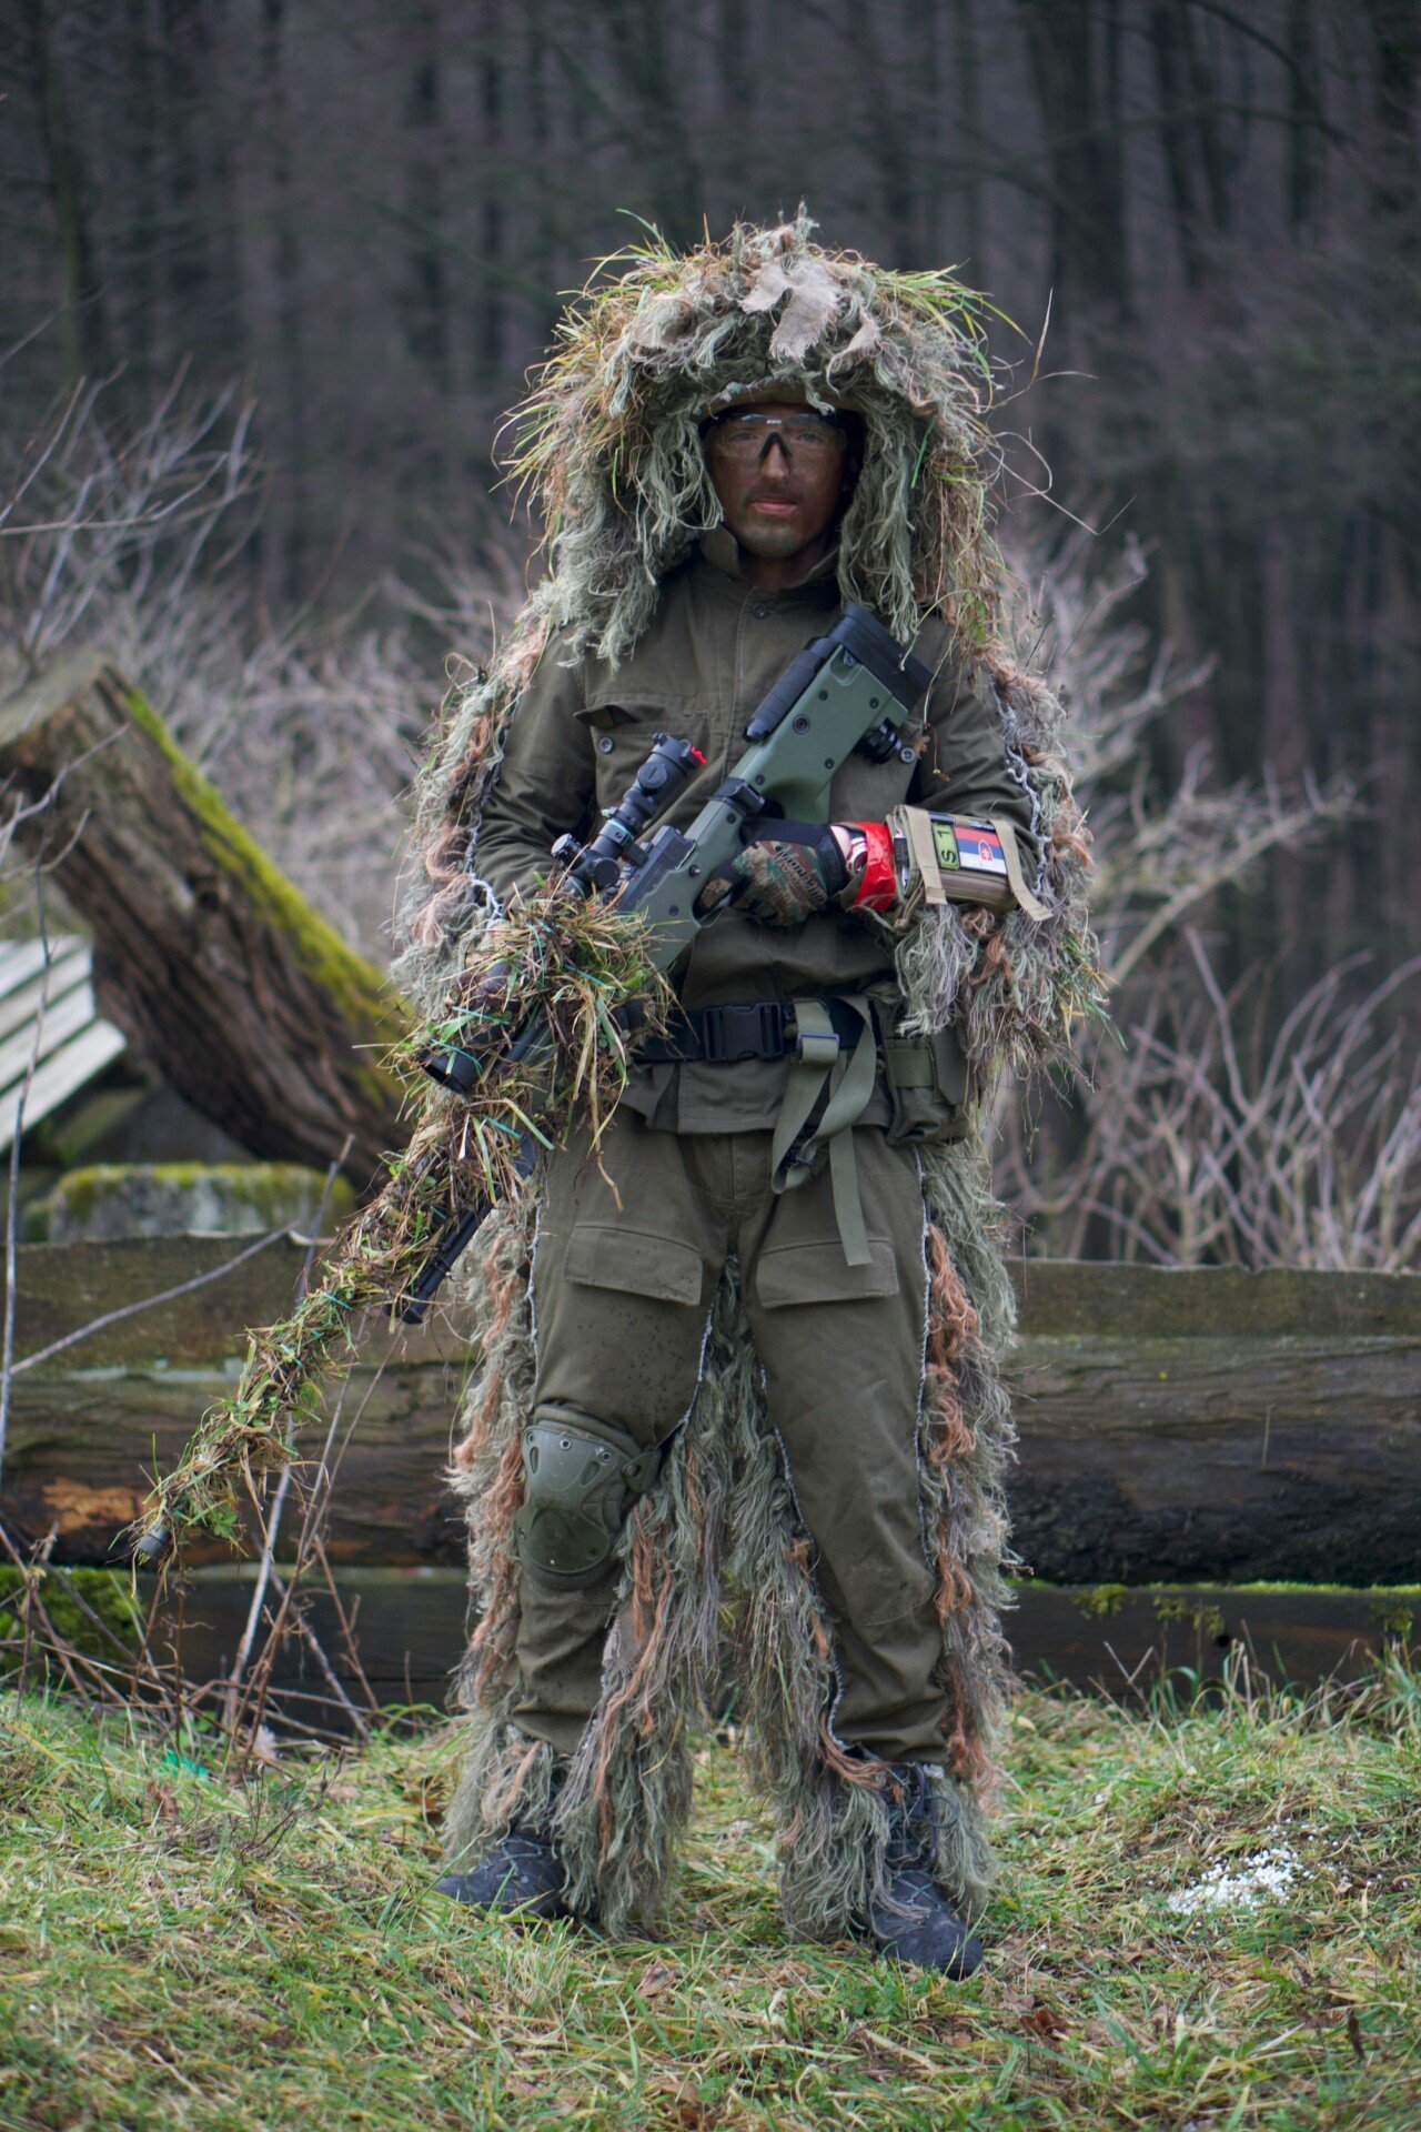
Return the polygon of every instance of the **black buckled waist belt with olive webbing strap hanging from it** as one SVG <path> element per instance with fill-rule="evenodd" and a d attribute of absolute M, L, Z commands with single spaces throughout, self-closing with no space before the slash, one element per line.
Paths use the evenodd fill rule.
<path fill-rule="evenodd" d="M 635 1034 L 639 1011 L 624 1008 L 618 1019 Z M 852 1128 L 873 1096 L 880 1057 L 895 1087 L 931 1085 L 933 1053 L 925 1038 L 884 1038 L 863 994 L 831 994 L 822 1000 L 677 1008 L 665 1032 L 637 1043 L 637 1057 L 650 1066 L 737 1066 L 744 1060 L 793 1057 L 771 1143 L 773 1190 L 793 1192 L 805 1183 L 827 1147 L 844 1258 L 850 1266 L 871 1262 Z"/>

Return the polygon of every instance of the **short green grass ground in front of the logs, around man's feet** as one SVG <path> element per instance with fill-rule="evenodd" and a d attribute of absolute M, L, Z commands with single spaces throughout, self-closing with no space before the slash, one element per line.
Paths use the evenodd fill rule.
<path fill-rule="evenodd" d="M 428 1893 L 447 1727 L 202 1753 L 0 1697 L 0 2126 L 1421 2128 L 1404 1671 L 1346 1712 L 1023 1695 L 967 1985 L 786 1942 L 726 1746 L 675 1938 L 631 1947 Z"/>

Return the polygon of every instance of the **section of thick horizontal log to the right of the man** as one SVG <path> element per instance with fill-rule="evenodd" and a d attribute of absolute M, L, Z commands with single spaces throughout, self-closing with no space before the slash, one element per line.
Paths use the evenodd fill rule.
<path fill-rule="evenodd" d="M 1421 1578 L 1421 1279 L 1018 1269 L 1023 1556 L 1110 1578 Z"/>

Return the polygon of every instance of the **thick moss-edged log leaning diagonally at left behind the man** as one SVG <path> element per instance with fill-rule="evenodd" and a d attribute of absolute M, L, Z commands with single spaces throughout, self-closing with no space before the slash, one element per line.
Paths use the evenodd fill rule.
<path fill-rule="evenodd" d="M 62 778 L 21 836 L 60 853 L 104 1013 L 254 1156 L 324 1168 L 352 1134 L 364 1190 L 401 1141 L 377 1066 L 401 1006 L 151 706 L 102 659 L 64 661 L 0 706 L 0 776 L 30 800 Z"/>

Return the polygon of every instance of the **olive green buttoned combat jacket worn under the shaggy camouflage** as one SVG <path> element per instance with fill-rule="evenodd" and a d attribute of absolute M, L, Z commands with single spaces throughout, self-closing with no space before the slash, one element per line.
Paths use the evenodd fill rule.
<path fill-rule="evenodd" d="M 688 740 L 705 757 L 669 819 L 686 827 L 746 748 L 746 723 L 795 652 L 839 608 L 835 556 L 801 584 L 761 593 L 739 569 L 720 527 L 667 578 L 660 605 L 633 655 L 616 669 L 594 657 L 560 663 L 554 637 L 518 706 L 494 787 L 484 804 L 473 868 L 501 902 L 550 870 L 558 836 L 586 836 L 614 806 L 652 746 L 652 733 Z M 1031 800 L 1006 759 L 1001 712 L 929 623 L 912 650 L 935 669 L 922 710 L 903 729 L 910 759 L 871 763 L 852 755 L 829 789 L 829 821 L 884 821 L 910 802 L 952 814 L 1006 814 L 1031 855 Z M 726 910 L 697 938 L 677 981 L 682 1006 L 822 998 L 865 991 L 893 1021 L 893 940 L 869 917 L 831 908 L 793 930 L 756 925 Z M 643 1066 L 624 1102 L 677 1132 L 773 1126 L 788 1060 L 737 1066 Z M 933 1043 L 942 1132 L 965 1096 L 965 1064 L 952 1032 Z M 863 1124 L 891 1124 L 880 1083 Z M 914 1132 L 914 1138 L 925 1136 Z M 933 1136 L 933 1134 L 927 1134 Z"/>

